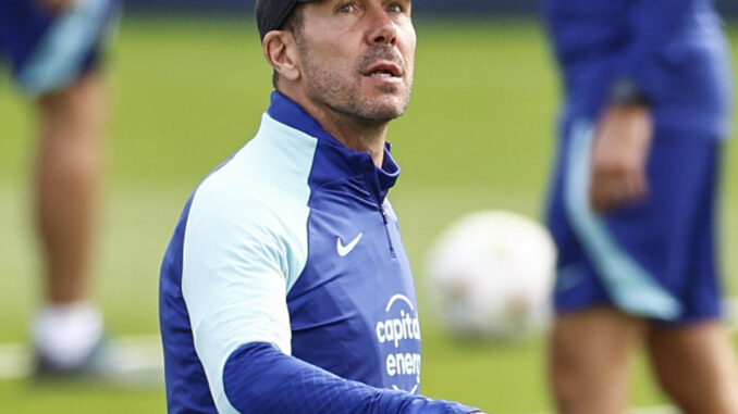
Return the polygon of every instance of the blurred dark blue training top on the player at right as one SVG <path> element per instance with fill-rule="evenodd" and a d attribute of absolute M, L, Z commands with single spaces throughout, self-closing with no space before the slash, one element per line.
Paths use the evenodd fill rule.
<path fill-rule="evenodd" d="M 659 128 L 724 137 L 730 68 L 711 0 L 542 0 L 564 74 L 564 123 L 594 118 L 629 79 Z"/>

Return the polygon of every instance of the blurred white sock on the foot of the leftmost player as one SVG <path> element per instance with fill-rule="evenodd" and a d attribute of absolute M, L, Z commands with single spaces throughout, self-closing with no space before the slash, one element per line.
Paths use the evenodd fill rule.
<path fill-rule="evenodd" d="M 102 316 L 86 302 L 46 305 L 36 317 L 38 351 L 60 368 L 82 364 L 102 336 Z"/>

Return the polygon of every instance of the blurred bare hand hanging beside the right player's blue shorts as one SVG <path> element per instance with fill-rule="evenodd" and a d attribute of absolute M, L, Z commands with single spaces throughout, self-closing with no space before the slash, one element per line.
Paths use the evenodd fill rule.
<path fill-rule="evenodd" d="M 653 139 L 651 110 L 614 104 L 598 122 L 592 148 L 592 208 L 601 213 L 642 200 L 649 190 L 645 163 Z"/>

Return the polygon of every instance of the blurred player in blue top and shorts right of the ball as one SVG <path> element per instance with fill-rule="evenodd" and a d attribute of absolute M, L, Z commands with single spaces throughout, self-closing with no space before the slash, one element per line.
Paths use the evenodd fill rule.
<path fill-rule="evenodd" d="M 685 413 L 738 413 L 719 322 L 726 41 L 710 0 L 545 0 L 565 96 L 549 224 L 561 413 L 622 413 L 643 343 Z"/>

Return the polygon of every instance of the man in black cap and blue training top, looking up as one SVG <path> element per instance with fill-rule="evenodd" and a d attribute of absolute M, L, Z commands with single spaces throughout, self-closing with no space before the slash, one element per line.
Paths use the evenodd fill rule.
<path fill-rule="evenodd" d="M 261 0 L 256 137 L 185 206 L 161 273 L 171 413 L 469 413 L 420 390 L 385 142 L 413 85 L 410 0 Z"/>

